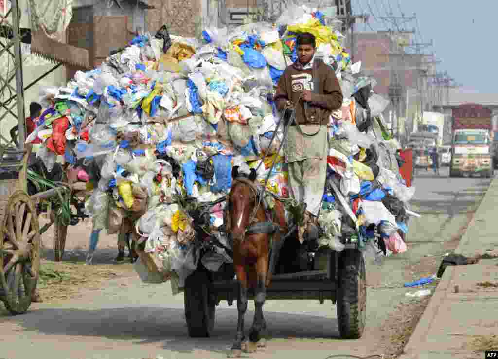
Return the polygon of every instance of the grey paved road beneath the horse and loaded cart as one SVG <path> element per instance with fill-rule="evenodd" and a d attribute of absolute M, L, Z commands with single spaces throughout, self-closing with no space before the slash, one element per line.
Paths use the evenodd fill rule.
<path fill-rule="evenodd" d="M 381 354 L 380 328 L 400 303 L 402 287 L 420 275 L 417 265 L 439 261 L 458 240 L 490 180 L 448 178 L 422 173 L 416 178 L 413 210 L 422 218 L 410 223 L 409 251 L 369 264 L 367 330 L 360 340 L 340 340 L 335 306 L 318 301 L 267 301 L 264 307 L 273 339 L 254 358 L 325 359 L 338 354 Z M 434 257 L 432 257 L 434 256 Z M 431 270 L 435 271 L 434 265 Z M 432 271 L 432 272 L 433 272 Z M 417 274 L 418 273 L 418 274 Z M 429 274 L 429 273 L 427 273 Z M 249 305 L 253 309 L 253 304 Z M 247 327 L 253 312 L 248 311 Z M 183 295 L 169 285 L 120 279 L 109 287 L 70 301 L 33 305 L 17 317 L 0 317 L 0 358 L 8 359 L 164 359 L 225 358 L 234 338 L 237 309 L 221 303 L 213 338 L 190 339 L 183 318 Z M 250 358 L 250 356 L 247 356 Z"/>

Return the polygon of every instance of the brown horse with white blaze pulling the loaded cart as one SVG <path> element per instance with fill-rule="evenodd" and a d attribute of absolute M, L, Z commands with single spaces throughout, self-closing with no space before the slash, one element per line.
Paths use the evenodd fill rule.
<path fill-rule="evenodd" d="M 234 266 L 239 282 L 237 309 L 239 314 L 237 335 L 231 357 L 242 355 L 244 337 L 244 317 L 248 307 L 248 291 L 254 290 L 254 320 L 246 351 L 253 353 L 263 347 L 266 341 L 266 323 L 263 317 L 263 304 L 266 288 L 278 260 L 280 250 L 280 227 L 285 226 L 283 210 L 279 212 L 278 225 L 268 221 L 263 206 L 264 189 L 257 183 L 256 171 L 251 169 L 249 176 L 232 171 L 234 182 L 228 195 L 226 231 L 234 248 Z M 281 207 L 280 207 L 281 208 Z M 271 248 L 270 248 L 271 247 Z M 271 258 L 269 258 L 271 250 Z M 268 263 L 269 262 L 269 263 Z"/>

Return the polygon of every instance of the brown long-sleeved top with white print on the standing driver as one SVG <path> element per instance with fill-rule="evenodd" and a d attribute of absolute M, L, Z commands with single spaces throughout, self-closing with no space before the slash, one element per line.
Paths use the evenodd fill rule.
<path fill-rule="evenodd" d="M 318 79 L 314 79 L 314 73 Z M 308 103 L 305 113 L 304 102 L 299 100 L 303 90 L 313 92 L 318 84 L 318 93 Z M 295 104 L 296 120 L 299 124 L 328 124 L 330 114 L 341 108 L 343 94 L 334 70 L 321 60 L 314 60 L 313 69 L 298 70 L 294 64 L 287 66 L 278 81 L 275 97 L 277 109 L 282 111 L 287 101 Z"/>

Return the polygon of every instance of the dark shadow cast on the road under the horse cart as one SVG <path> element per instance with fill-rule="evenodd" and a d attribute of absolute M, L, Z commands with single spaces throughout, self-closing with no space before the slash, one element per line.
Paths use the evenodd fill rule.
<path fill-rule="evenodd" d="M 324 310 L 331 309 L 328 307 Z M 253 315 L 252 311 L 246 314 L 246 335 L 249 335 Z M 41 308 L 22 316 L 10 317 L 8 321 L 24 328 L 26 332 L 44 335 L 104 337 L 132 341 L 134 345 L 160 342 L 165 350 L 187 354 L 194 350 L 225 353 L 235 339 L 237 319 L 231 309 L 218 309 L 216 316 L 215 331 L 211 338 L 190 338 L 184 311 L 171 308 Z M 6 318 L 0 316 L 0 322 Z M 267 312 L 265 319 L 271 339 L 339 339 L 337 320 L 333 318 Z"/>

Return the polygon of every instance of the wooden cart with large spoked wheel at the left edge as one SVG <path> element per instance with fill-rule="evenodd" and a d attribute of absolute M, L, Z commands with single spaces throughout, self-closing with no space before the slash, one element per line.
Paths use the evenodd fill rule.
<path fill-rule="evenodd" d="M 40 229 L 37 204 L 58 192 L 73 193 L 76 187 L 65 185 L 29 196 L 30 154 L 31 146 L 26 149 L 0 147 L 0 300 L 12 314 L 25 313 L 31 305 L 31 293 L 40 268 L 40 238 L 52 224 L 55 224 L 56 260 L 64 253 L 67 225 L 53 215 L 50 223 Z"/>

